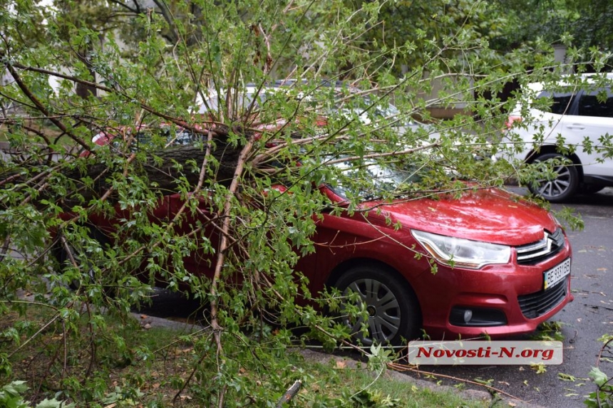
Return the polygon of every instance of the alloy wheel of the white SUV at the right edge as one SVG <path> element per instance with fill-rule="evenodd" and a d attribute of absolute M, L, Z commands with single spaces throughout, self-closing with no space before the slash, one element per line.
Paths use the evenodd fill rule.
<path fill-rule="evenodd" d="M 567 160 L 568 158 L 557 153 L 545 153 L 534 159 L 534 162 L 547 162 L 547 160 Z M 546 199 L 548 202 L 563 202 L 572 197 L 579 188 L 579 172 L 574 165 L 559 165 L 554 168 L 557 177 L 552 180 L 542 179 L 537 185 L 530 185 L 528 189 L 532 194 Z"/>

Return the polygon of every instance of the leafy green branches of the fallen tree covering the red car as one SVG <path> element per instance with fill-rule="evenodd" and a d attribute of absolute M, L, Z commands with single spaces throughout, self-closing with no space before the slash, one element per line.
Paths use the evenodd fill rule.
<path fill-rule="evenodd" d="M 39 398 L 57 389 L 80 404 L 136 404 L 139 377 L 112 384 L 108 376 L 165 355 L 133 344 L 128 318 L 160 284 L 199 300 L 211 329 L 182 339 L 192 351 L 168 378 L 174 391 L 197 406 L 270 405 L 288 380 L 313 380 L 289 347 L 351 339 L 321 313 L 339 310 L 338 291 L 315 282 L 310 293 L 300 273 L 301 259 L 321 246 L 321 214 L 361 216 L 359 202 L 372 194 L 386 202 L 501 186 L 515 169 L 489 157 L 507 148 L 496 141 L 515 100 L 485 95 L 512 80 L 555 83 L 560 70 L 550 70 L 550 43 L 535 44 L 542 52 L 530 73 L 517 54 L 493 50 L 484 26 L 503 21 L 485 2 L 155 4 L 11 0 L 0 10 L 10 75 L 0 132 L 12 152 L 0 160 L 0 313 L 21 317 L 0 320 L 0 378 L 19 378 L 22 352 L 34 347 L 45 365 Z M 577 48 L 569 63 L 577 61 L 582 69 L 606 56 Z M 282 79 L 301 80 L 267 89 Z M 435 79 L 440 92 L 424 96 Z M 342 85 L 322 85 L 336 80 Z M 199 101 L 211 109 L 198 113 Z M 450 120 L 431 117 L 458 103 L 466 108 Z M 431 127 L 406 126 L 413 117 Z M 167 146 L 177 130 L 195 134 L 188 159 L 185 146 Z M 92 142 L 103 135 L 114 139 Z M 332 165 L 365 159 L 410 177 L 381 191 L 362 166 Z M 321 194 L 331 182 L 344 185 L 348 202 Z M 391 219 L 386 228 L 405 232 Z M 40 326 L 29 323 L 38 307 Z M 378 373 L 391 358 L 379 345 L 364 353 Z M 396 403 L 369 387 L 317 399 L 308 402 Z"/>

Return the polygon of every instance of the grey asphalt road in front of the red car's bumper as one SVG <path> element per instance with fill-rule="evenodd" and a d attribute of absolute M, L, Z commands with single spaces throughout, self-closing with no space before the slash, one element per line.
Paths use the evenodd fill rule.
<path fill-rule="evenodd" d="M 519 365 L 428 366 L 423 370 L 467 380 L 493 380 L 493 387 L 543 407 L 584 407 L 584 396 L 595 389 L 587 377 L 602 347 L 597 339 L 613 334 L 613 189 L 552 205 L 552 209 L 563 207 L 582 216 L 584 229 L 567 230 L 573 249 L 571 287 L 575 301 L 552 318 L 563 324 L 562 365 L 548 365 L 547 372 L 541 374 Z M 601 368 L 613 375 L 613 363 Z M 575 377 L 575 381 L 561 380 L 560 373 Z"/>

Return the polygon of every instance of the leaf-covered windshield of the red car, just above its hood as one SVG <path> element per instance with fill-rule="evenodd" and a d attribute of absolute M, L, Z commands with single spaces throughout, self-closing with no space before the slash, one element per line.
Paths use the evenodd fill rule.
<path fill-rule="evenodd" d="M 405 196 L 412 190 L 412 184 L 421 180 L 417 169 L 405 169 L 396 161 L 346 161 L 333 165 L 340 172 L 329 183 L 329 187 L 344 199 L 371 200 Z"/>

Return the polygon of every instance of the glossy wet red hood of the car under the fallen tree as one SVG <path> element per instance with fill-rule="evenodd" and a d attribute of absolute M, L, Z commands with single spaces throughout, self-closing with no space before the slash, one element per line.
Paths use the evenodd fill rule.
<path fill-rule="evenodd" d="M 440 194 L 436 199 L 363 205 L 372 204 L 405 228 L 493 244 L 528 244 L 542 239 L 544 229 L 557 228 L 548 211 L 501 189 L 479 189 L 460 198 Z"/>

